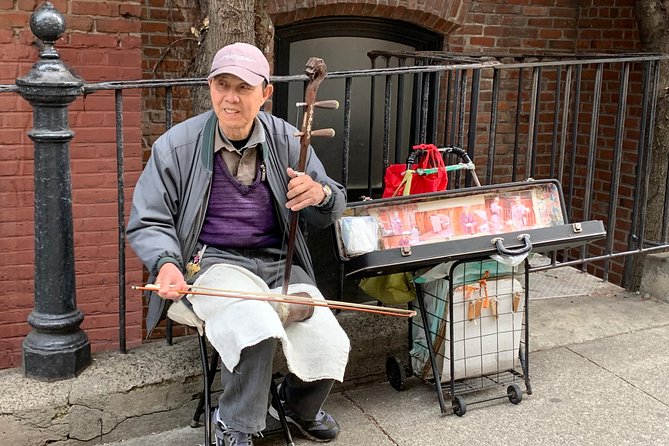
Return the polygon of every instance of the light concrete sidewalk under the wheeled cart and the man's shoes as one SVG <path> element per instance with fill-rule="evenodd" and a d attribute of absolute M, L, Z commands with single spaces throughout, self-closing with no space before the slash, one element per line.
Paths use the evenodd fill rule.
<path fill-rule="evenodd" d="M 441 416 L 431 386 L 397 392 L 388 383 L 330 396 L 326 409 L 342 433 L 333 445 L 667 445 L 669 327 L 643 329 L 531 355 L 533 394 Z M 503 392 L 503 390 L 500 389 Z M 202 428 L 183 428 L 114 446 L 202 444 Z M 295 444 L 315 443 L 295 436 Z M 284 445 L 281 436 L 256 441 Z"/>

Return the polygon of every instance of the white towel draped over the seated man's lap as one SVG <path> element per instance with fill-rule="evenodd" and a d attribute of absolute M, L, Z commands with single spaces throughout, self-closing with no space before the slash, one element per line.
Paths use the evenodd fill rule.
<path fill-rule="evenodd" d="M 247 269 L 227 264 L 212 266 L 197 278 L 194 285 L 259 293 L 281 291 L 270 290 L 260 277 Z M 297 292 L 323 299 L 313 285 L 288 287 L 289 294 Z M 315 307 L 311 318 L 284 328 L 279 315 L 266 301 L 203 295 L 189 295 L 188 300 L 193 304 L 195 314 L 205 321 L 207 338 L 228 370 L 232 371 L 239 363 L 242 349 L 264 339 L 278 338 L 288 369 L 301 380 L 343 381 L 350 343 L 329 308 Z"/>

